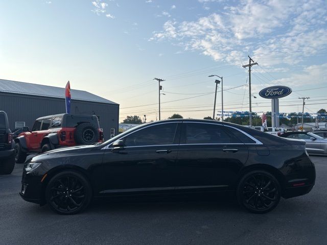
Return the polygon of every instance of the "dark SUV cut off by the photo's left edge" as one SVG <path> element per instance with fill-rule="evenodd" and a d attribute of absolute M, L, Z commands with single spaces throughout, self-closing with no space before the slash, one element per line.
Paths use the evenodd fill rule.
<path fill-rule="evenodd" d="M 0 174 L 9 175 L 15 166 L 15 150 L 6 112 L 0 111 Z"/>

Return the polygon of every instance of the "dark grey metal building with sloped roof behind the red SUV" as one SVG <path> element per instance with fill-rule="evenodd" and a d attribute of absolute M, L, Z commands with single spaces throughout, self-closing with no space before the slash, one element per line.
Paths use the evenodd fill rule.
<path fill-rule="evenodd" d="M 71 90 L 71 113 L 96 115 L 104 138 L 118 134 L 119 104 L 82 90 Z M 65 89 L 0 79 L 0 111 L 7 112 L 9 127 L 32 128 L 36 118 L 65 113 Z"/>

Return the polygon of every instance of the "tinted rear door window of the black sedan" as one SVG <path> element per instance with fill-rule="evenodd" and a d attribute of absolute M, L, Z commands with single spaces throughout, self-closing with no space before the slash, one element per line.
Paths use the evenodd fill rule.
<path fill-rule="evenodd" d="M 242 143 L 223 126 L 201 123 L 186 123 L 183 141 L 185 144 Z"/>

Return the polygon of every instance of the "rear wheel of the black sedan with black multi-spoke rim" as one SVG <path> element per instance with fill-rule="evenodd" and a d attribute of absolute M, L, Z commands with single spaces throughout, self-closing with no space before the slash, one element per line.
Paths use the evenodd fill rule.
<path fill-rule="evenodd" d="M 281 200 L 281 185 L 265 170 L 250 171 L 238 184 L 237 199 L 252 213 L 267 213 Z"/>

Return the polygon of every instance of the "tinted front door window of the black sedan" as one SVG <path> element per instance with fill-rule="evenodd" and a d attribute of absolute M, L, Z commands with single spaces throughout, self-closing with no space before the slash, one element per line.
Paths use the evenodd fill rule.
<path fill-rule="evenodd" d="M 154 125 L 126 136 L 126 146 L 173 144 L 177 123 Z"/>

